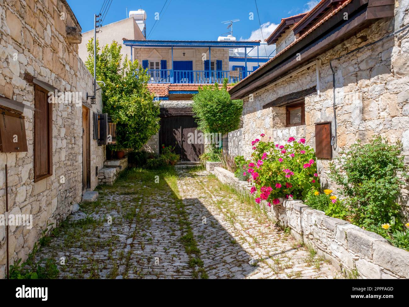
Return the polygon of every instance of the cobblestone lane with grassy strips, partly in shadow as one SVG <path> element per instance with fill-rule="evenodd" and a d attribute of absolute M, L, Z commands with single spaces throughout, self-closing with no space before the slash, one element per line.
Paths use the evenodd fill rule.
<path fill-rule="evenodd" d="M 341 276 L 206 171 L 133 170 L 99 193 L 44 239 L 59 278 Z"/>

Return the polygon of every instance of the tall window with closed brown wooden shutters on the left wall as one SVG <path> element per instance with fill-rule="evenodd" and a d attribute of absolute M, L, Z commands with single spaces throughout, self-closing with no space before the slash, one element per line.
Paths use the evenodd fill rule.
<path fill-rule="evenodd" d="M 35 86 L 34 107 L 34 182 L 52 175 L 52 103 L 48 91 Z"/>

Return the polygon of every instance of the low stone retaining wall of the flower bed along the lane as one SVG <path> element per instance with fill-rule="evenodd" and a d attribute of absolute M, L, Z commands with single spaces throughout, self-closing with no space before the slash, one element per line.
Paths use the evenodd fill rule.
<path fill-rule="evenodd" d="M 215 167 L 214 174 L 220 182 L 248 193 L 247 182 L 239 181 L 226 169 Z M 301 200 L 281 200 L 272 207 L 264 202 L 261 206 L 268 218 L 290 227 L 295 238 L 312 245 L 334 265 L 356 269 L 360 278 L 409 278 L 409 252 L 390 245 L 378 234 L 326 216 Z"/>

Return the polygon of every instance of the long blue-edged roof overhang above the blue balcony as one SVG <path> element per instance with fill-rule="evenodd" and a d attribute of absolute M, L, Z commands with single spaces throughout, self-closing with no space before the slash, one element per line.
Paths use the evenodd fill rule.
<path fill-rule="evenodd" d="M 125 46 L 142 47 L 142 48 L 159 48 L 159 47 L 176 47 L 176 48 L 254 48 L 260 46 L 260 42 L 243 42 L 243 41 L 207 41 L 207 40 L 123 40 Z"/>

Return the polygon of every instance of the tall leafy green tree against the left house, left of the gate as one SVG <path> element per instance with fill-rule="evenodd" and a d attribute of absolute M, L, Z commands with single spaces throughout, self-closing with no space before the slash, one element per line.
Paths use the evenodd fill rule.
<path fill-rule="evenodd" d="M 85 65 L 94 72 L 93 39 L 87 44 Z M 101 52 L 100 52 L 101 51 Z M 159 103 L 153 101 L 147 83 L 149 76 L 137 60 L 131 62 L 121 57 L 121 46 L 99 47 L 97 40 L 97 80 L 105 82 L 102 88 L 103 112 L 117 124 L 117 145 L 112 150 L 139 150 L 149 138 L 159 131 Z"/>

